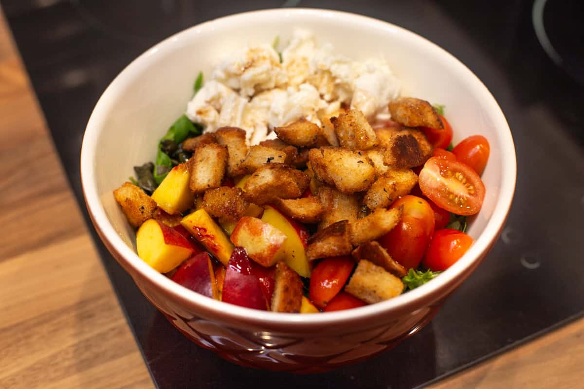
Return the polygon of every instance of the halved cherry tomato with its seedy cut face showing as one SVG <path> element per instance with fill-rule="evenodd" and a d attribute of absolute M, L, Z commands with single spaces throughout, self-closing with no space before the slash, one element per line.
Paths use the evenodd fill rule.
<path fill-rule="evenodd" d="M 418 178 L 422 193 L 440 208 L 457 215 L 474 215 L 481 210 L 485 185 L 464 163 L 432 157 Z"/>

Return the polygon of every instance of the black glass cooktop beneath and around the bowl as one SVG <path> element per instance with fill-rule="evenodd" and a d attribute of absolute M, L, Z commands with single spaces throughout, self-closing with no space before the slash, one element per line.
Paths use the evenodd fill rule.
<path fill-rule="evenodd" d="M 432 324 L 359 365 L 313 376 L 231 365 L 167 323 L 96 238 L 158 387 L 418 387 L 584 312 L 584 87 L 578 84 L 584 51 L 582 29 L 575 23 L 584 15 L 582 2 L 537 0 L 535 11 L 533 1 L 522 0 L 464 6 L 456 0 L 1 3 L 83 209 L 81 139 L 108 83 L 162 38 L 230 13 L 303 6 L 398 24 L 461 59 L 484 80 L 509 121 L 518 180 L 502 237 Z"/>

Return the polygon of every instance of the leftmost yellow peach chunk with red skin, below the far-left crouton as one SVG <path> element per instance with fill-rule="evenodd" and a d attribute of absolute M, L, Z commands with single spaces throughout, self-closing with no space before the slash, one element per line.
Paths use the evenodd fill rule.
<path fill-rule="evenodd" d="M 190 242 L 171 227 L 146 220 L 136 233 L 138 257 L 161 273 L 167 273 L 180 265 L 193 253 Z"/>

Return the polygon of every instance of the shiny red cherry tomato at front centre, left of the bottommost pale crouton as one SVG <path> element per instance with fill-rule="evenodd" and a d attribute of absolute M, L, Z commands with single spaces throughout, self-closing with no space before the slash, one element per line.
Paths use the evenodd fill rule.
<path fill-rule="evenodd" d="M 355 261 L 351 257 L 331 257 L 320 261 L 310 276 L 308 295 L 315 306 L 324 308 L 343 289 Z"/>

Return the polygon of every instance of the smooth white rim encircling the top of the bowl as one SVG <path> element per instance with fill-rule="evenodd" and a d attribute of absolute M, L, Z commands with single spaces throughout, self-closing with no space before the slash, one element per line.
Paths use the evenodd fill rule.
<path fill-rule="evenodd" d="M 96 155 L 96 143 L 100 135 L 100 124 L 102 124 L 107 111 L 109 111 L 110 107 L 113 105 L 112 97 L 124 90 L 128 85 L 129 80 L 133 79 L 133 73 L 139 72 L 140 69 L 148 67 L 149 59 L 151 57 L 164 55 L 165 52 L 171 51 L 173 45 L 178 44 L 179 41 L 188 40 L 190 37 L 196 36 L 202 32 L 219 29 L 221 26 L 235 21 L 251 21 L 252 19 L 262 19 L 264 17 L 275 16 L 304 16 L 312 17 L 314 19 L 335 18 L 336 20 L 339 20 L 339 22 L 359 24 L 364 29 L 399 34 L 401 39 L 407 40 L 411 44 L 422 45 L 424 50 L 426 50 L 430 56 L 442 57 L 444 61 L 450 62 L 449 66 L 455 68 L 458 76 L 463 78 L 467 85 L 469 85 L 473 92 L 479 97 L 484 110 L 489 112 L 493 117 L 493 127 L 496 129 L 498 138 L 500 138 L 498 146 L 501 148 L 501 163 L 504 168 L 501 173 L 498 201 L 495 204 L 495 208 L 493 209 L 493 213 L 489 218 L 485 229 L 481 232 L 478 239 L 475 240 L 475 243 L 471 246 L 470 250 L 452 265 L 448 271 L 445 271 L 440 277 L 433 279 L 432 282 L 426 283 L 419 288 L 410 290 L 408 293 L 404 293 L 403 295 L 384 302 L 325 314 L 299 315 L 249 309 L 199 295 L 155 271 L 142 261 L 132 248 L 124 243 L 109 222 L 97 190 L 97 183 L 94 174 L 96 167 L 94 165 L 94 160 Z M 361 321 L 366 318 L 374 318 L 380 315 L 387 316 L 406 310 L 413 311 L 416 307 L 421 308 L 423 304 L 427 304 L 429 299 L 434 299 L 432 296 L 442 294 L 443 292 L 446 293 L 454 289 L 457 284 L 457 278 L 465 274 L 465 272 L 472 271 L 472 269 L 479 264 L 500 234 L 512 204 L 517 174 L 515 145 L 505 115 L 496 103 L 491 92 L 489 92 L 481 80 L 460 60 L 443 48 L 434 44 L 432 41 L 395 24 L 349 12 L 307 8 L 264 9 L 220 17 L 182 30 L 146 50 L 143 54 L 128 64 L 126 68 L 114 78 L 106 88 L 105 92 L 103 92 L 102 96 L 100 96 L 98 102 L 93 108 L 85 129 L 80 162 L 82 189 L 84 192 L 86 207 L 91 216 L 93 225 L 109 250 L 117 254 L 114 254 L 114 257 L 116 257 L 124 268 L 126 268 L 125 265 L 131 267 L 142 278 L 148 279 L 150 282 L 154 283 L 157 288 L 164 290 L 166 295 L 170 295 L 172 296 L 172 299 L 177 299 L 183 304 L 186 304 L 193 311 L 206 312 L 214 317 L 228 317 L 230 320 L 241 323 L 260 326 L 269 325 L 270 327 L 286 327 L 288 329 L 321 327 L 323 325 L 339 325 L 343 323 L 348 324 L 353 323 L 356 320 Z M 125 265 L 121 263 L 122 261 L 125 262 Z M 131 274 L 131 272 L 129 273 Z M 131 275 L 134 278 L 134 275 Z"/>

